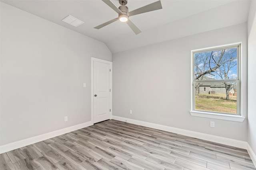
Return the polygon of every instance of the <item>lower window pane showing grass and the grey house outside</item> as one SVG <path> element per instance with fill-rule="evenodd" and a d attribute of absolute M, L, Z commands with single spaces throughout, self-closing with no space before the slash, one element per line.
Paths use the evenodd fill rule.
<path fill-rule="evenodd" d="M 195 83 L 195 110 L 237 114 L 237 83 Z"/>

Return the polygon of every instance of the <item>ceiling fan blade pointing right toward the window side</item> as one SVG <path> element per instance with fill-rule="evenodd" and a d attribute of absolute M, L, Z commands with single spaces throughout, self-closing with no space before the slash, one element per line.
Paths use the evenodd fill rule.
<path fill-rule="evenodd" d="M 160 9 L 162 9 L 162 4 L 161 4 L 161 1 L 159 0 L 159 1 L 153 2 L 152 4 L 148 4 L 146 6 L 143 6 L 141 8 L 138 8 L 136 10 L 129 12 L 129 16 L 134 16 L 134 15 L 142 14 L 145 12 L 150 12 L 150 11 L 160 10 Z"/>

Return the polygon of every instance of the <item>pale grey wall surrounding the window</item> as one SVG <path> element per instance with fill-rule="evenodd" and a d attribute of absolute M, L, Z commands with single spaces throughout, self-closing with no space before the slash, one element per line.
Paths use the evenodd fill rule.
<path fill-rule="evenodd" d="M 237 42 L 242 42 L 242 113 L 247 116 L 246 23 L 113 54 L 113 115 L 247 141 L 247 120 L 189 113 L 191 50 Z"/>

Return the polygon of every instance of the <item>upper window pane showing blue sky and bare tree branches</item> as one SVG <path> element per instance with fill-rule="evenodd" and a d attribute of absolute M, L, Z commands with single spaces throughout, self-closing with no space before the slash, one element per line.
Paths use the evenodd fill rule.
<path fill-rule="evenodd" d="M 194 53 L 194 80 L 237 79 L 237 48 Z"/>

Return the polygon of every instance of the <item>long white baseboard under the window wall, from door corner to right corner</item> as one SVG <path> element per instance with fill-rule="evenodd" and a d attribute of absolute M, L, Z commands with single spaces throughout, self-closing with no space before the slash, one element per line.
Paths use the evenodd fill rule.
<path fill-rule="evenodd" d="M 203 139 L 203 140 L 206 140 L 206 141 L 212 141 L 212 142 L 216 142 L 216 143 L 220 143 L 220 144 L 224 144 L 224 145 L 230 145 L 230 146 L 233 146 L 233 147 L 247 149 L 247 142 L 245 142 L 245 141 L 238 141 L 238 140 L 235 140 L 235 139 L 229 139 L 229 138 L 225 138 L 225 137 L 208 135 L 208 134 L 205 134 L 205 133 L 200 133 L 200 132 L 195 132 L 195 131 L 188 131 L 188 130 L 179 129 L 179 128 L 176 128 L 176 127 L 159 125 L 159 124 L 156 124 L 156 123 L 149 123 L 149 122 L 139 121 L 139 120 L 135 120 L 135 119 L 128 119 L 128 118 L 125 118 L 125 117 L 113 116 L 113 119 L 118 120 L 118 121 L 133 123 L 133 124 L 136 124 L 136 125 L 151 127 L 151 128 L 159 129 L 159 130 L 162 130 L 162 131 L 168 131 L 168 132 L 177 133 L 177 134 L 180 134 L 180 135 L 186 135 L 186 136 L 189 136 L 189 137 Z"/>

